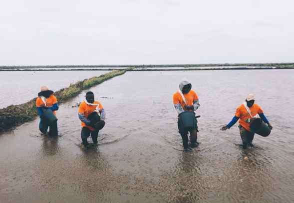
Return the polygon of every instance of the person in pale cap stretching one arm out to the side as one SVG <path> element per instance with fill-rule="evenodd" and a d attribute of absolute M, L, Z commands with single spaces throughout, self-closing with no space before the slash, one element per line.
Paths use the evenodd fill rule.
<path fill-rule="evenodd" d="M 273 126 L 270 124 L 269 120 L 264 114 L 263 109 L 255 103 L 255 96 L 253 93 L 247 95 L 246 100 L 243 104 L 241 104 L 235 113 L 235 116 L 229 122 L 229 124 L 224 125 L 221 130 L 227 130 L 232 127 L 239 119 L 239 129 L 240 129 L 240 136 L 243 142 L 243 148 L 246 149 L 247 146 L 253 147 L 252 144 L 254 138 L 254 132 L 250 130 L 250 123 L 253 118 L 260 116 L 260 118 L 268 124 L 270 129 L 273 129 Z"/>

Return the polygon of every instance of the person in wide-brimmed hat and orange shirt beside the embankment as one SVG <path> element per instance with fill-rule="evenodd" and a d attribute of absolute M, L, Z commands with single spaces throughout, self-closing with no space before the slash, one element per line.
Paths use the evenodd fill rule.
<path fill-rule="evenodd" d="M 58 103 L 56 97 L 53 95 L 53 91 L 49 90 L 47 86 L 41 86 L 41 91 L 38 93 L 38 97 L 36 99 L 36 107 L 38 114 L 40 116 L 39 122 L 39 130 L 46 134 L 49 127 L 49 135 L 57 136 L 58 128 L 57 128 L 57 120 L 48 123 L 46 118 L 43 116 L 43 109 L 50 108 L 54 114 L 56 114 L 56 110 L 58 110 Z"/>

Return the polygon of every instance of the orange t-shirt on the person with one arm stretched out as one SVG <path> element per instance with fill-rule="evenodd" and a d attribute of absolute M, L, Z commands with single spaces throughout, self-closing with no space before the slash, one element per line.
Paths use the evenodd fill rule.
<path fill-rule="evenodd" d="M 257 114 L 260 114 L 260 113 L 264 112 L 263 109 L 258 104 L 253 104 L 253 106 L 251 106 L 249 109 L 250 109 L 250 112 L 251 112 L 252 116 L 255 116 Z M 239 120 L 240 125 L 242 127 L 244 127 L 245 129 L 247 129 L 248 131 L 250 131 L 250 123 L 248 123 L 246 120 L 248 118 L 252 118 L 252 117 L 247 112 L 247 109 L 244 106 L 244 104 L 241 104 L 237 108 L 235 115 L 240 118 L 240 120 Z"/>

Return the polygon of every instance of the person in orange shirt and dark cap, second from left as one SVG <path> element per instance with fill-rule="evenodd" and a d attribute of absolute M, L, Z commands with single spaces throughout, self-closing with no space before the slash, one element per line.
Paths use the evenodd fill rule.
<path fill-rule="evenodd" d="M 82 130 L 81 138 L 85 147 L 89 146 L 87 138 L 91 135 L 93 143 L 98 143 L 98 133 L 105 125 L 105 111 L 99 101 L 95 101 L 95 95 L 92 91 L 86 93 L 86 100 L 79 105 L 78 116 L 81 120 Z M 93 117 L 93 118 L 92 118 Z M 96 117 L 96 119 L 94 119 Z"/>

